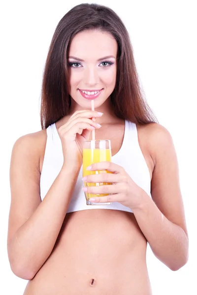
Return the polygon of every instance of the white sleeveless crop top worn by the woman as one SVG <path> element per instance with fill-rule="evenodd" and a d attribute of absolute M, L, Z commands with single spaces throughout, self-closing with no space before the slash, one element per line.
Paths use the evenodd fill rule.
<path fill-rule="evenodd" d="M 47 129 L 47 142 L 44 154 L 42 173 L 40 177 L 40 197 L 44 199 L 55 178 L 63 166 L 62 143 L 56 124 L 51 124 Z M 122 166 L 132 180 L 139 185 L 150 197 L 151 181 L 149 169 L 139 147 L 136 124 L 125 120 L 125 134 L 120 150 L 112 156 L 112 162 Z M 132 212 L 118 202 L 111 205 L 86 205 L 83 184 L 83 167 L 81 166 L 73 195 L 67 213 L 86 209 L 114 209 Z"/>

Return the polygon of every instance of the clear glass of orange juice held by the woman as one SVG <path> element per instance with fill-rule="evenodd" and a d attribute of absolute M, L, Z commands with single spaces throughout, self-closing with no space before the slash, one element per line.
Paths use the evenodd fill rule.
<path fill-rule="evenodd" d="M 83 144 L 83 177 L 93 174 L 111 173 L 106 170 L 101 171 L 88 171 L 86 168 L 98 162 L 111 162 L 111 141 L 110 140 L 87 140 Z M 84 182 L 85 187 L 109 185 L 108 182 Z M 87 205 L 110 205 L 111 203 L 93 203 L 90 198 L 104 197 L 109 194 L 89 194 L 85 192 Z"/>

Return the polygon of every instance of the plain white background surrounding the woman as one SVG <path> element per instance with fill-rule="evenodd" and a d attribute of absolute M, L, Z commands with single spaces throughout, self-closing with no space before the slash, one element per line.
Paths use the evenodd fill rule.
<path fill-rule="evenodd" d="M 27 284 L 11 272 L 7 258 L 11 150 L 20 136 L 41 129 L 41 81 L 48 48 L 58 22 L 81 3 L 69 2 L 6 0 L 1 4 L 0 294 L 4 295 L 22 295 Z M 126 0 L 97 3 L 114 9 L 125 23 L 146 99 L 160 124 L 172 135 L 179 161 L 190 258 L 186 266 L 173 272 L 148 247 L 153 295 L 197 294 L 197 2 L 130 0 L 129 7 Z"/>

